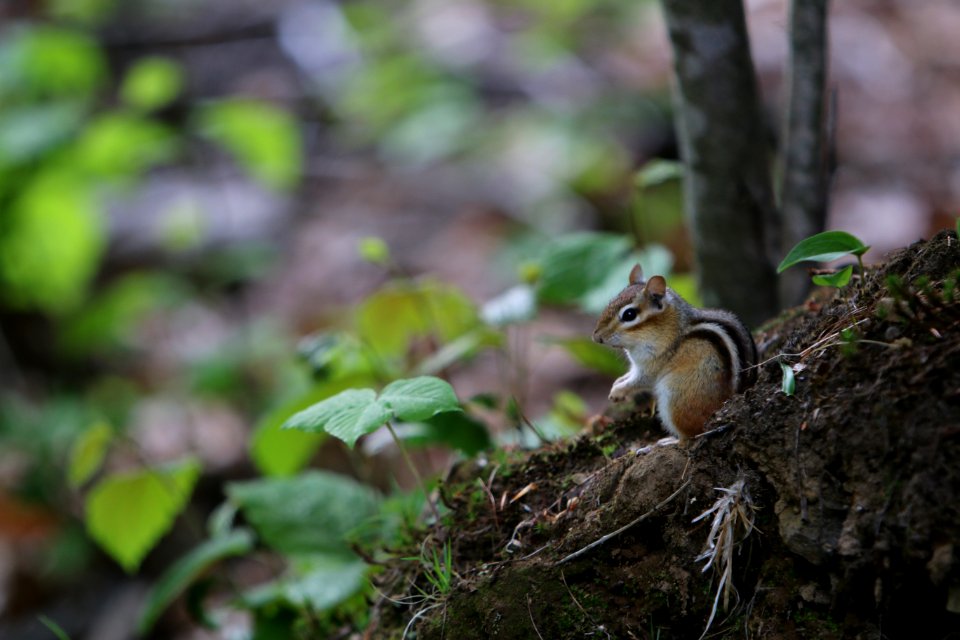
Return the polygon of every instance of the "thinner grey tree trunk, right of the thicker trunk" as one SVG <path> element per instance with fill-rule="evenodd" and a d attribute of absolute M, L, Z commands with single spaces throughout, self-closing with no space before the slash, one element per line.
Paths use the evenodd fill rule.
<path fill-rule="evenodd" d="M 797 242 L 823 231 L 827 217 L 828 0 L 794 0 L 790 12 L 789 98 L 781 189 L 781 255 Z M 799 304 L 810 288 L 802 269 L 781 276 L 780 300 Z"/>

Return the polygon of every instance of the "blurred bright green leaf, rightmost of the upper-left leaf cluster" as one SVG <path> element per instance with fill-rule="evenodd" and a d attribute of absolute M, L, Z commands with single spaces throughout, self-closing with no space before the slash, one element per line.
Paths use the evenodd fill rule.
<path fill-rule="evenodd" d="M 286 111 L 265 102 L 224 100 L 202 111 L 200 127 L 265 186 L 286 190 L 299 180 L 300 132 Z"/>

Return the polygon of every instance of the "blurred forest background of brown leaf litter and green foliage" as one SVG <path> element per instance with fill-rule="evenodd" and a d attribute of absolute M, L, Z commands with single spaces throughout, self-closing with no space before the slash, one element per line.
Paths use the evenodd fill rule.
<path fill-rule="evenodd" d="M 958 213 L 960 6 L 834 4 L 828 226 L 879 260 Z M 775 145 L 787 8 L 746 6 Z M 52 637 L 37 616 L 54 612 L 74 637 L 132 637 L 147 585 L 195 541 L 178 524 L 136 577 L 103 555 L 76 469 L 90 434 L 114 443 L 98 471 L 198 460 L 204 515 L 228 480 L 311 459 L 356 474 L 339 444 L 257 434 L 310 388 L 324 336 L 389 334 L 391 308 L 368 303 L 398 278 L 489 319 L 545 247 L 609 231 L 695 297 L 670 65 L 649 0 L 0 4 L 0 636 Z M 445 377 L 575 432 L 610 376 L 555 343 L 596 308 L 543 305 L 508 335 L 513 375 L 501 353 Z M 448 451 L 417 455 L 440 469 Z"/>

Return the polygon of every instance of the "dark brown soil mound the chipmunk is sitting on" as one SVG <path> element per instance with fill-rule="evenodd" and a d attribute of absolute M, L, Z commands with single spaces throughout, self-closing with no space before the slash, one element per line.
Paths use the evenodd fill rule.
<path fill-rule="evenodd" d="M 958 269 L 942 232 L 770 323 L 763 359 L 803 353 L 794 395 L 771 360 L 689 446 L 636 453 L 665 435 L 640 408 L 454 469 L 428 539 L 452 546 L 452 588 L 388 570 L 391 598 L 434 595 L 376 603 L 367 636 L 416 617 L 408 638 L 698 638 L 724 563 L 703 571 L 714 514 L 694 520 L 742 481 L 710 637 L 960 638 Z"/>

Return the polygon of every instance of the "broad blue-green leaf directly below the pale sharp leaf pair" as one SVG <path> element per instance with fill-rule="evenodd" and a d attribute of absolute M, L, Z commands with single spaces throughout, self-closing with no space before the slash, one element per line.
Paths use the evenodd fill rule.
<path fill-rule="evenodd" d="M 349 553 L 348 536 L 380 502 L 369 487 L 323 471 L 235 482 L 227 495 L 263 541 L 285 554 Z"/>

